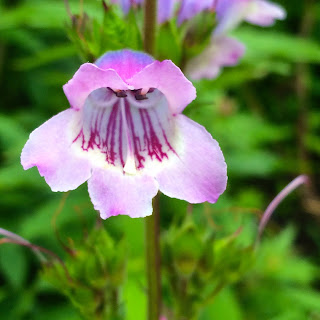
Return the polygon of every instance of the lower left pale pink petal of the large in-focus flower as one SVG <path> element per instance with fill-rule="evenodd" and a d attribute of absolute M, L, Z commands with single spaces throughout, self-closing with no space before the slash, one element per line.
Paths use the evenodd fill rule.
<path fill-rule="evenodd" d="M 71 149 L 72 126 L 79 112 L 65 110 L 30 134 L 21 154 L 23 168 L 37 166 L 52 191 L 76 189 L 91 176 L 88 160 Z"/>

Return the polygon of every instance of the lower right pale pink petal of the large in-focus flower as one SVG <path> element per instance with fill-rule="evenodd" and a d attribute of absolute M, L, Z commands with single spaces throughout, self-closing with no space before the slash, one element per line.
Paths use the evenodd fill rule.
<path fill-rule="evenodd" d="M 155 176 L 165 195 L 190 203 L 214 203 L 227 184 L 227 166 L 211 135 L 184 115 L 176 116 L 178 156 Z"/>

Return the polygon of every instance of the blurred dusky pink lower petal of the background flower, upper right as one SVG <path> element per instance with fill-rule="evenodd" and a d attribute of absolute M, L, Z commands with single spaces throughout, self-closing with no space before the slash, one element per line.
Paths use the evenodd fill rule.
<path fill-rule="evenodd" d="M 188 62 L 186 75 L 192 80 L 216 78 L 221 68 L 238 64 L 244 52 L 244 45 L 234 38 L 213 38 L 206 49 Z"/>

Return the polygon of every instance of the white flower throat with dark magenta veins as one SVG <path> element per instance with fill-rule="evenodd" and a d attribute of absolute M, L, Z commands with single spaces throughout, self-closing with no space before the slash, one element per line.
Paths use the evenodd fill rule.
<path fill-rule="evenodd" d="M 172 115 L 160 91 L 149 90 L 139 100 L 140 90 L 114 92 L 115 98 L 106 90 L 98 89 L 87 99 L 74 144 L 98 157 L 104 154 L 103 162 L 130 173 L 145 168 L 147 161 L 168 159 L 170 151 L 176 155 Z"/>

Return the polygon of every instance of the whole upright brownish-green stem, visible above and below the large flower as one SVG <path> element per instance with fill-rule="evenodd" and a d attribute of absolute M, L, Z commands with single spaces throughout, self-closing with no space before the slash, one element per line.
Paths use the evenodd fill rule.
<path fill-rule="evenodd" d="M 144 50 L 154 55 L 156 48 L 157 0 L 145 0 Z M 159 320 L 161 311 L 160 212 L 159 195 L 153 200 L 153 214 L 145 219 L 148 282 L 148 320 Z"/>

